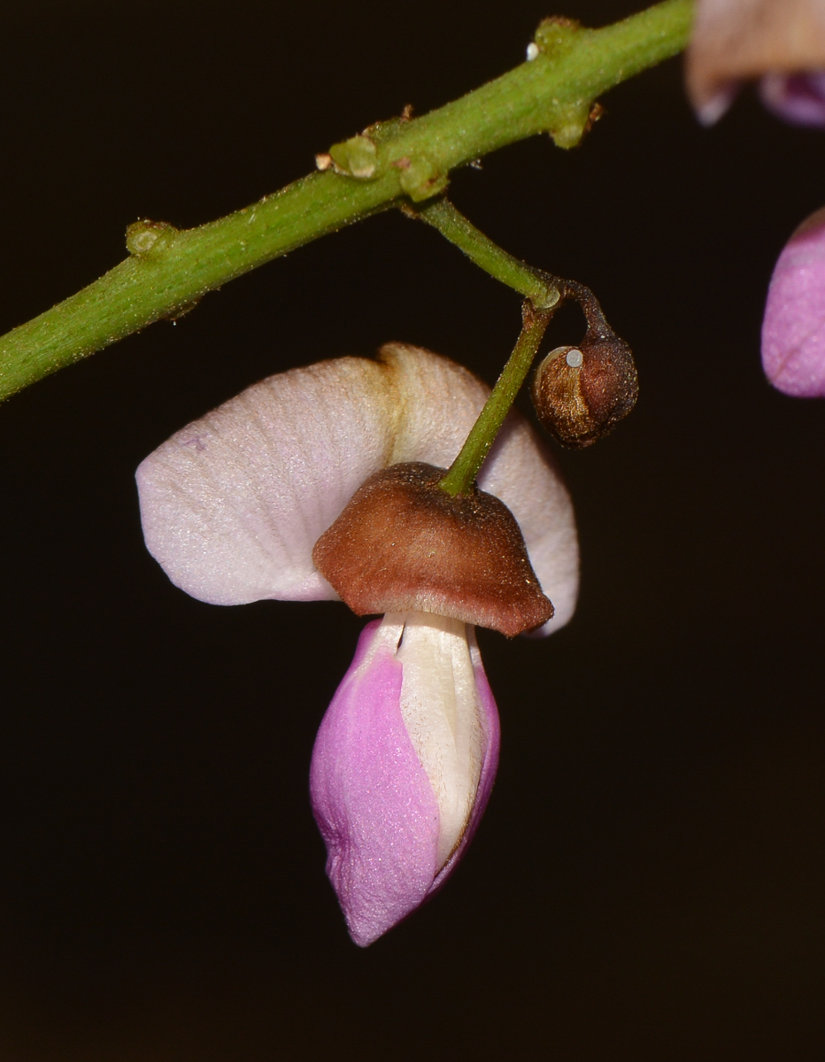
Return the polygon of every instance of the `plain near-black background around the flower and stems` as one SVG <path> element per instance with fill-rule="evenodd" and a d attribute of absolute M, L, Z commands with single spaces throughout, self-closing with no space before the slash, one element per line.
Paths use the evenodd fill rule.
<path fill-rule="evenodd" d="M 503 72 L 551 13 L 6 4 L 0 327 L 119 261 L 137 218 L 213 219 Z M 641 398 L 560 455 L 574 620 L 482 632 L 503 726 L 483 827 L 367 950 L 307 800 L 361 622 L 187 598 L 143 549 L 133 473 L 258 378 L 391 339 L 492 380 L 518 299 L 384 215 L 0 408 L 3 1062 L 822 1057 L 825 404 L 772 391 L 758 348 L 775 257 L 825 202 L 825 134 L 750 90 L 700 129 L 680 61 L 604 102 L 578 150 L 537 138 L 452 184 L 595 289 Z M 574 312 L 552 327 L 581 336 Z"/>

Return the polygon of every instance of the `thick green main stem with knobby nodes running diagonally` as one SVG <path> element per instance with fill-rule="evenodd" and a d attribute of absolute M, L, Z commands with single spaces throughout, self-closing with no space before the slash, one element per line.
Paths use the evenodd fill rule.
<path fill-rule="evenodd" d="M 692 0 L 665 0 L 601 30 L 543 23 L 533 62 L 422 118 L 333 145 L 338 172 L 313 173 L 199 228 L 139 224 L 125 261 L 0 338 L 0 398 L 326 233 L 403 196 L 442 192 L 451 170 L 505 144 L 549 132 L 570 147 L 598 95 L 685 47 L 692 13 Z"/>

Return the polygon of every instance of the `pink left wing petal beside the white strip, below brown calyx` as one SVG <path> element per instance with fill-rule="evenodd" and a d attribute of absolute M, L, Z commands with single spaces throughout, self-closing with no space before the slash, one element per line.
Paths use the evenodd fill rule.
<path fill-rule="evenodd" d="M 422 903 L 437 869 L 439 806 L 401 718 L 401 664 L 380 627 L 361 634 L 310 768 L 327 874 L 362 947 Z"/>

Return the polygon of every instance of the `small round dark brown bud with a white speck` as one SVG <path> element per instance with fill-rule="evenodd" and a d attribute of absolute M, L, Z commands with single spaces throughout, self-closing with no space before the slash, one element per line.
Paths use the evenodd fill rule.
<path fill-rule="evenodd" d="M 636 365 L 617 336 L 557 346 L 536 370 L 533 406 L 550 434 L 579 449 L 612 431 L 636 405 Z"/>

